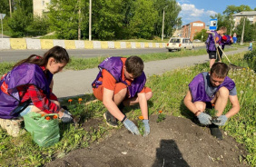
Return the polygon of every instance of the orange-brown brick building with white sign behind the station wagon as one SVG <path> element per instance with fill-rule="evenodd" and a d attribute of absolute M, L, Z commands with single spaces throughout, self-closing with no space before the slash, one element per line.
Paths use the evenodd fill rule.
<path fill-rule="evenodd" d="M 182 25 L 182 37 L 190 38 L 193 40 L 193 36 L 197 32 L 201 32 L 205 28 L 205 23 L 202 21 L 195 21 L 188 25 Z"/>

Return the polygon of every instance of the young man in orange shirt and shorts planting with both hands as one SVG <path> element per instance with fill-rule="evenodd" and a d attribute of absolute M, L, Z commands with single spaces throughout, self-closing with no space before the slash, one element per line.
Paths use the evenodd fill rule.
<path fill-rule="evenodd" d="M 145 87 L 143 60 L 138 56 L 109 57 L 99 64 L 100 72 L 92 83 L 94 96 L 108 110 L 103 114 L 106 123 L 117 127 L 119 120 L 131 133 L 139 135 L 138 127 L 126 118 L 123 107 L 140 104 L 143 114 L 144 136 L 150 133 L 147 101 L 153 96 Z"/>

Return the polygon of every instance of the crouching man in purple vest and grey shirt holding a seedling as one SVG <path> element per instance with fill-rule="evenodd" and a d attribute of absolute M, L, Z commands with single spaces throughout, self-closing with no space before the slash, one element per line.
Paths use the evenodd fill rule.
<path fill-rule="evenodd" d="M 228 72 L 227 64 L 213 64 L 210 73 L 203 72 L 192 79 L 184 98 L 187 108 L 194 113 L 200 123 L 209 125 L 212 136 L 220 140 L 222 132 L 219 126 L 224 125 L 228 118 L 240 110 L 236 86 L 227 76 Z M 231 102 L 231 109 L 223 113 L 228 100 Z M 214 113 L 207 113 L 206 109 L 213 109 Z"/>

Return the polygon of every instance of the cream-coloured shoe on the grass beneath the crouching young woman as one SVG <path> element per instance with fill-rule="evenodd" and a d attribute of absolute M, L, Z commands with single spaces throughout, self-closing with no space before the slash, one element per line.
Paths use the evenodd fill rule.
<path fill-rule="evenodd" d="M 13 137 L 25 134 L 25 130 L 21 128 L 21 123 L 23 123 L 23 120 L 0 119 L 2 129 L 7 131 L 7 133 Z"/>

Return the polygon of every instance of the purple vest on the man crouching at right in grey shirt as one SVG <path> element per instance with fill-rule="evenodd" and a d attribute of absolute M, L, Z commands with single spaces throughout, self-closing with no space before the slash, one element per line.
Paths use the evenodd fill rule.
<path fill-rule="evenodd" d="M 210 77 L 208 77 L 210 79 Z M 228 90 L 232 90 L 235 87 L 235 83 L 230 77 L 226 76 L 223 83 L 218 86 L 215 93 L 222 87 L 226 87 Z M 189 83 L 189 88 L 192 93 L 192 103 L 194 102 L 211 102 L 213 97 L 210 97 L 205 91 L 205 82 L 202 74 L 196 75 L 192 82 Z"/>

